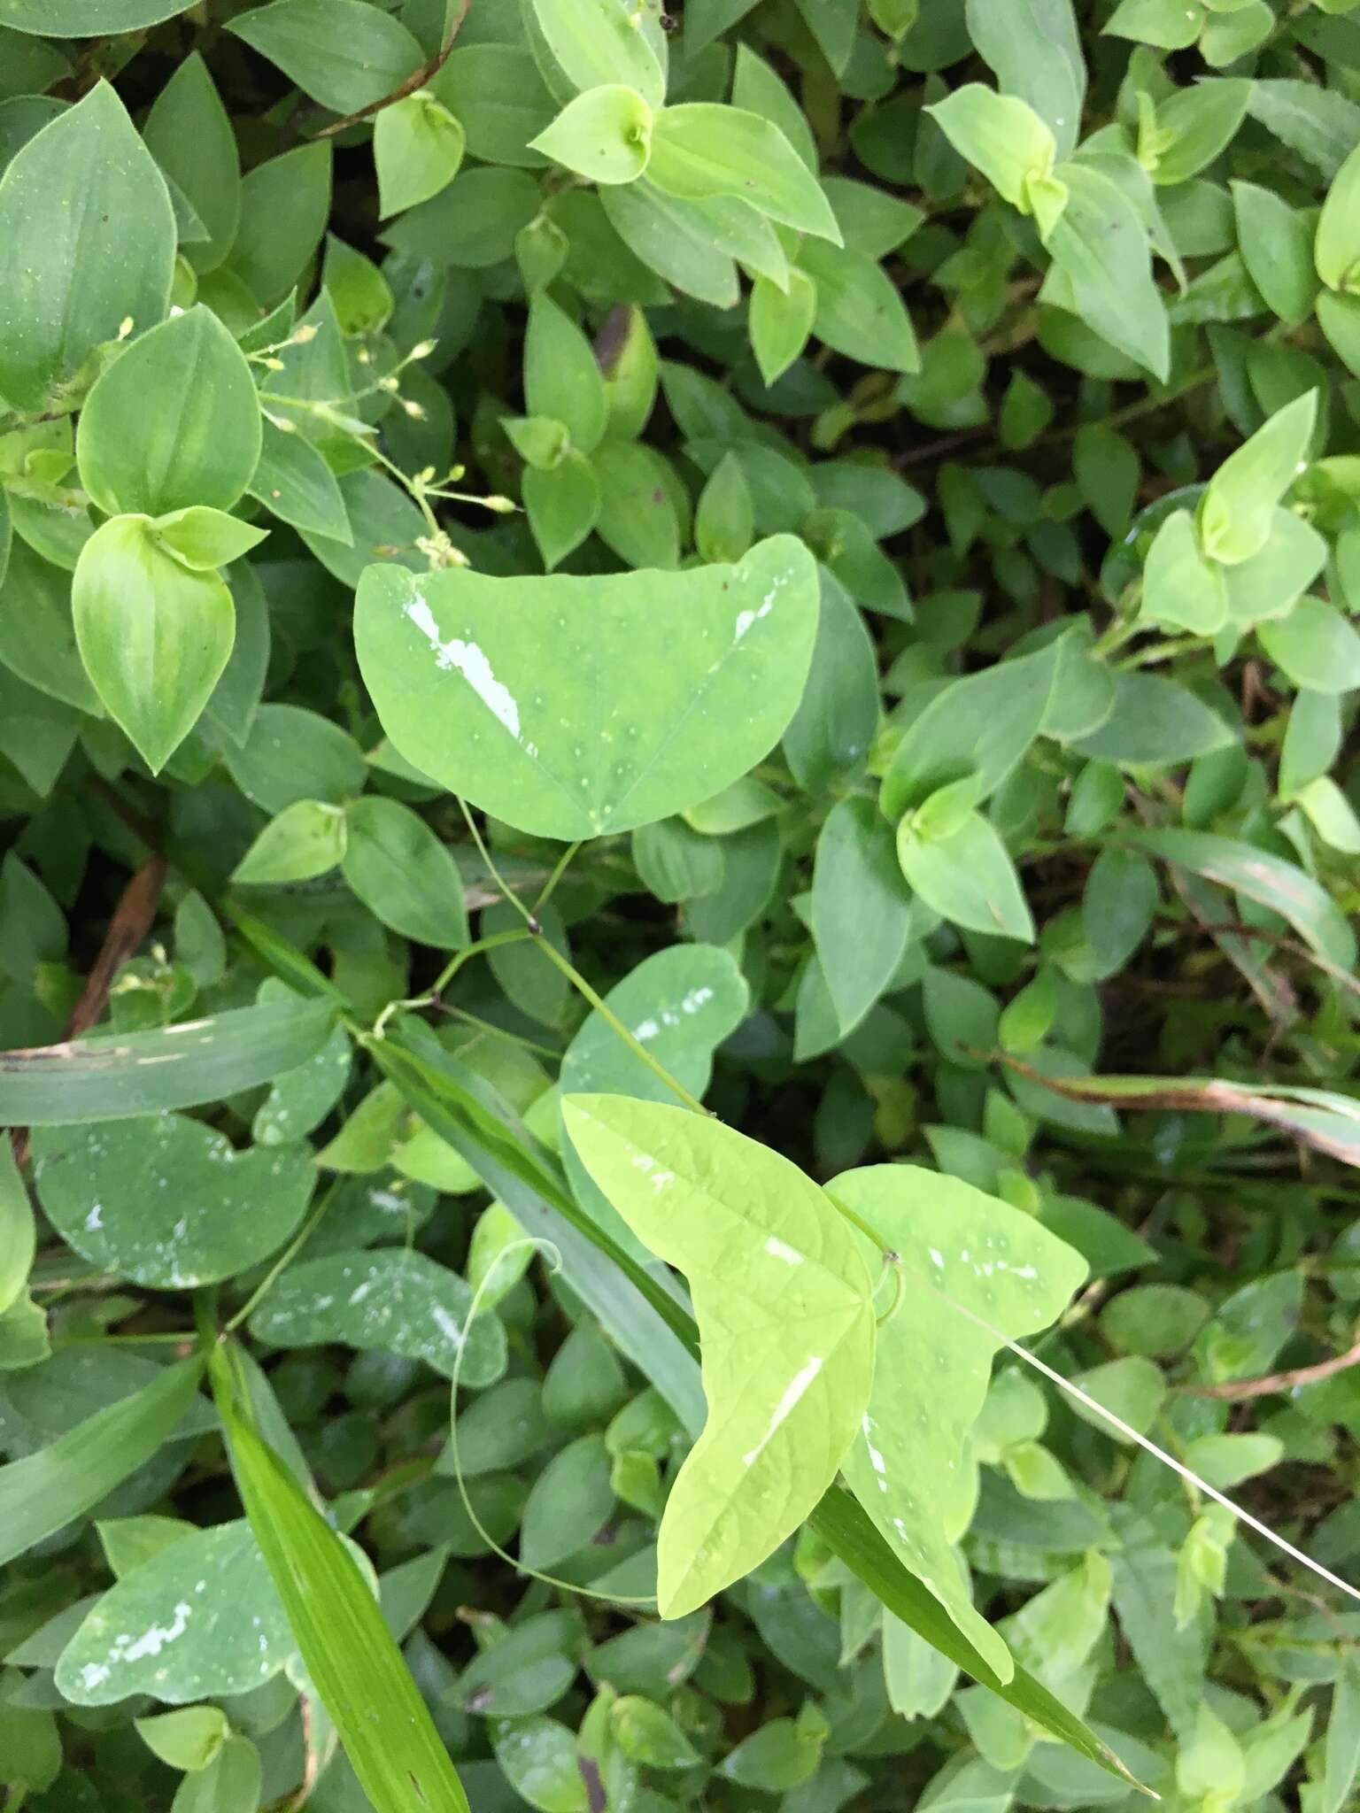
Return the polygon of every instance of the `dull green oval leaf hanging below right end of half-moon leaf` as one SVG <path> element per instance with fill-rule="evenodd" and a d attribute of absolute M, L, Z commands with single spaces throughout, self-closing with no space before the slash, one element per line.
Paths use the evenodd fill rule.
<path fill-rule="evenodd" d="M 885 992 L 912 932 L 892 827 L 870 800 L 840 800 L 812 868 L 812 937 L 841 1033 Z"/>

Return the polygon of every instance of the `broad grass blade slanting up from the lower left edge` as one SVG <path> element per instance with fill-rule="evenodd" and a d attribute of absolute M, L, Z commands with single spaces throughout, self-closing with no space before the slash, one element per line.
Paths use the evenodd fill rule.
<path fill-rule="evenodd" d="M 201 1372 L 199 1360 L 181 1360 L 49 1447 L 0 1467 L 0 1565 L 74 1523 L 149 1461 L 183 1421 Z"/>

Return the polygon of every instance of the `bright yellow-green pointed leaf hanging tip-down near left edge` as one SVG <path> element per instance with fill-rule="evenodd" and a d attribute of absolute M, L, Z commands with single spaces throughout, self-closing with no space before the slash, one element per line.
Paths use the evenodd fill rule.
<path fill-rule="evenodd" d="M 71 589 L 85 673 L 152 772 L 189 736 L 236 638 L 232 595 L 156 540 L 147 517 L 111 517 L 80 551 Z"/>

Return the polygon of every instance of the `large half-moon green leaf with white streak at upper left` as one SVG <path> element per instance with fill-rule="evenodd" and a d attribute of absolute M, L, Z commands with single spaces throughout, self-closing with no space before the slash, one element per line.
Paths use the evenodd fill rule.
<path fill-rule="evenodd" d="M 562 839 L 665 818 L 745 774 L 794 713 L 814 631 L 816 569 L 792 537 L 642 582 L 377 566 L 355 602 L 359 667 L 401 754 Z M 678 738 L 695 713 L 707 734 Z"/>

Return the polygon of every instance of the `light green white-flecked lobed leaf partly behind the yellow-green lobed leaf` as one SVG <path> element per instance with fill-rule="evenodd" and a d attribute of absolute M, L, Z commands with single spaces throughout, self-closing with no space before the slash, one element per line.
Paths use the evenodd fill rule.
<path fill-rule="evenodd" d="M 965 1445 L 1001 1336 L 1050 1323 L 1086 1262 L 1034 1217 L 921 1166 L 845 1171 L 827 1195 L 894 1249 L 905 1293 L 879 1331 L 874 1389 L 841 1463 L 845 1478 L 903 1566 L 1010 1681 L 1010 1652 L 974 1610 L 950 1546 L 972 1514 Z M 867 1240 L 863 1251 L 872 1253 Z"/>

